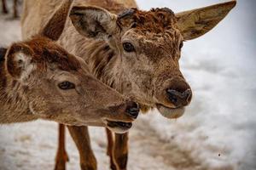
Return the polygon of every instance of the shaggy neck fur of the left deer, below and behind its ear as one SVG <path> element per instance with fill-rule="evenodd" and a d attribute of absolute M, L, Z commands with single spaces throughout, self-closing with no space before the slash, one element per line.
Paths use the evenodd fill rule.
<path fill-rule="evenodd" d="M 4 50 L 5 54 L 6 50 Z M 29 110 L 28 103 L 22 98 L 26 87 L 9 76 L 4 65 L 3 48 L 0 54 L 0 124 L 12 122 L 28 122 L 35 120 Z"/>

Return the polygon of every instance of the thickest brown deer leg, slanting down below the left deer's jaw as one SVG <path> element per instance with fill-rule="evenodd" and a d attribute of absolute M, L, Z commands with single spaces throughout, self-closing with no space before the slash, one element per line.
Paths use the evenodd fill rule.
<path fill-rule="evenodd" d="M 90 136 L 88 127 L 68 126 L 80 155 L 80 167 L 82 170 L 96 170 L 96 157 L 90 147 Z"/>

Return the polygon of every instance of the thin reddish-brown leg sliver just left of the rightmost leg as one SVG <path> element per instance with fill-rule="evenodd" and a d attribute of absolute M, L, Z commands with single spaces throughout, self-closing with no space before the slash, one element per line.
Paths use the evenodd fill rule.
<path fill-rule="evenodd" d="M 117 163 L 113 157 L 113 133 L 106 128 L 107 138 L 108 138 L 108 150 L 107 155 L 110 158 L 110 168 L 112 170 L 118 170 Z"/>

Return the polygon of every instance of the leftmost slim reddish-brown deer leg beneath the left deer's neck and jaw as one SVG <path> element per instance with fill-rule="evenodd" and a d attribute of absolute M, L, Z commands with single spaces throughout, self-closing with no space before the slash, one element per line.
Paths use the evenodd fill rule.
<path fill-rule="evenodd" d="M 65 170 L 68 161 L 65 150 L 65 125 L 59 124 L 59 146 L 55 157 L 55 170 Z"/>

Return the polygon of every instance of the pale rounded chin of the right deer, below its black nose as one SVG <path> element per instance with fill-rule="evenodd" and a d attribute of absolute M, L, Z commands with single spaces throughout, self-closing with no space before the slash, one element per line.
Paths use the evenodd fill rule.
<path fill-rule="evenodd" d="M 178 117 L 183 116 L 185 112 L 185 107 L 179 107 L 174 109 L 158 104 L 156 105 L 156 108 L 162 116 L 165 116 L 168 119 L 177 119 Z"/>

